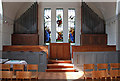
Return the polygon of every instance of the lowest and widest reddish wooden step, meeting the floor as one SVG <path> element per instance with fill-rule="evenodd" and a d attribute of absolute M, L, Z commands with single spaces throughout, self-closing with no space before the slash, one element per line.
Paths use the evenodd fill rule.
<path fill-rule="evenodd" d="M 73 68 L 46 69 L 46 72 L 76 72 Z"/>

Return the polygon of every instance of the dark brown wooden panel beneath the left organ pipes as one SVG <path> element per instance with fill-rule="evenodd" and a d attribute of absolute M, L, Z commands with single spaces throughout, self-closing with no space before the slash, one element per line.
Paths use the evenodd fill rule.
<path fill-rule="evenodd" d="M 38 45 L 38 34 L 12 34 L 12 45 Z"/>

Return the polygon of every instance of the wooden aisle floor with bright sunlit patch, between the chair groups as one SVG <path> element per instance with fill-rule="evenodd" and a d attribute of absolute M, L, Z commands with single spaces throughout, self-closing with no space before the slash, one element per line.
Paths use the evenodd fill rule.
<path fill-rule="evenodd" d="M 83 72 L 39 72 L 38 79 L 84 79 Z"/>

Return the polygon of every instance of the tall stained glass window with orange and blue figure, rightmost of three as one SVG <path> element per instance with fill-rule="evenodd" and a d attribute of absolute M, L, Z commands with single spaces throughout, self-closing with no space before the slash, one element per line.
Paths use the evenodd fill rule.
<path fill-rule="evenodd" d="M 68 9 L 68 40 L 75 43 L 75 9 Z"/>

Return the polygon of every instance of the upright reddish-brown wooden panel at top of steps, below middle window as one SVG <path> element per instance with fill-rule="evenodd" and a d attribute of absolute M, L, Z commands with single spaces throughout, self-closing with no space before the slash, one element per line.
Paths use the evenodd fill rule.
<path fill-rule="evenodd" d="M 50 59 L 69 60 L 69 43 L 50 43 Z"/>

